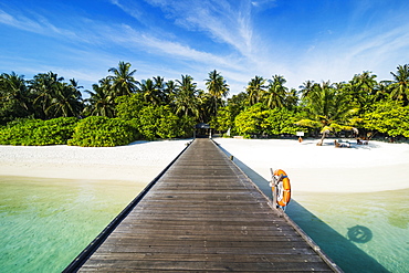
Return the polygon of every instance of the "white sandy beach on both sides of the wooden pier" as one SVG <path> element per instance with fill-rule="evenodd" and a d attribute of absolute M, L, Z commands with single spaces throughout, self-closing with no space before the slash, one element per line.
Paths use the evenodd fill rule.
<path fill-rule="evenodd" d="M 285 170 L 293 192 L 370 192 L 409 188 L 409 145 L 370 141 L 352 148 L 317 140 L 217 138 L 220 147 L 265 180 Z M 151 181 L 188 140 L 112 148 L 0 146 L 0 176 Z"/>

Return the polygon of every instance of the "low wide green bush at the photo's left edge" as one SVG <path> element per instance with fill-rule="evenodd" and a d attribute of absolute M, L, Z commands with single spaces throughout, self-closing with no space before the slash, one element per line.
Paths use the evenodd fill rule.
<path fill-rule="evenodd" d="M 60 117 L 50 120 L 21 119 L 9 123 L 0 129 L 1 145 L 63 145 L 74 133 L 75 117 Z"/>

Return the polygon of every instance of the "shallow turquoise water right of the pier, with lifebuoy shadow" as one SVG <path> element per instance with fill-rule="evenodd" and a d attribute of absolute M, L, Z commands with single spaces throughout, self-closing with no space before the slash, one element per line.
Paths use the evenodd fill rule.
<path fill-rule="evenodd" d="M 287 214 L 345 272 L 409 271 L 409 189 L 296 192 Z"/>

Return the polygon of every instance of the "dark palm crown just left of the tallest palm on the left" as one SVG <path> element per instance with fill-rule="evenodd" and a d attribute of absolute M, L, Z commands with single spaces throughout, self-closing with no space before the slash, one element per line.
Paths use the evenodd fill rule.
<path fill-rule="evenodd" d="M 91 96 L 85 102 L 88 103 L 85 106 L 84 112 L 93 116 L 115 116 L 115 95 L 112 91 L 111 81 L 108 78 L 102 78 L 98 84 L 93 85 L 92 91 L 85 91 Z"/>

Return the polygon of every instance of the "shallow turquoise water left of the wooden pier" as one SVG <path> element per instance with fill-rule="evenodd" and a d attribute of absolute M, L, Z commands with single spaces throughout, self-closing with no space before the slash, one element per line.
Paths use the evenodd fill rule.
<path fill-rule="evenodd" d="M 61 272 L 143 188 L 0 177 L 0 272 Z"/>

